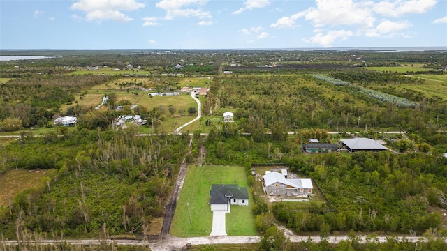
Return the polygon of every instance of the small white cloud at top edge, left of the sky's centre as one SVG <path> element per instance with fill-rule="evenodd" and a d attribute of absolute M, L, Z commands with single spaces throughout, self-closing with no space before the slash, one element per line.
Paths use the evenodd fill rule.
<path fill-rule="evenodd" d="M 197 17 L 200 19 L 211 18 L 208 11 L 193 8 L 186 8 L 191 5 L 204 6 L 207 1 L 204 0 L 162 0 L 155 4 L 157 8 L 166 10 L 165 19 L 173 20 L 178 17 Z"/>

